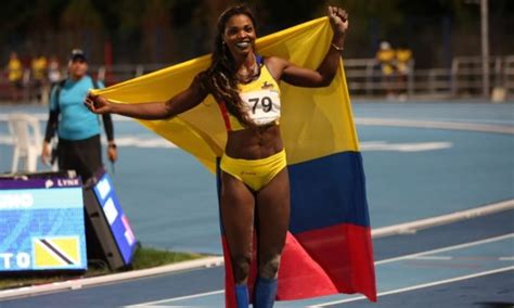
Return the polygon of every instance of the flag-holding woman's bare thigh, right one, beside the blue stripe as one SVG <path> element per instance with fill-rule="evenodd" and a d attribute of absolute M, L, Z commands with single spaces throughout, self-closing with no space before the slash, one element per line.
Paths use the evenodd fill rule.
<path fill-rule="evenodd" d="M 282 252 L 290 224 L 290 178 L 287 168 L 281 170 L 257 193 L 259 222 L 259 256 L 273 257 Z"/>

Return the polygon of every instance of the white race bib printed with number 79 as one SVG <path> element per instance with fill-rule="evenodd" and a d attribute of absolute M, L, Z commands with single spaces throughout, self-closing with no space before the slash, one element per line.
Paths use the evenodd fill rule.
<path fill-rule="evenodd" d="M 256 125 L 266 125 L 280 118 L 280 97 L 275 91 L 259 90 L 241 93 L 241 100 Z"/>

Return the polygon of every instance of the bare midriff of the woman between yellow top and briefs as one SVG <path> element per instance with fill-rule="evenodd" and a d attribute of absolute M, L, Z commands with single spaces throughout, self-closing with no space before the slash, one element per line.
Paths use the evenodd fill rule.
<path fill-rule="evenodd" d="M 226 153 L 232 158 L 260 159 L 284 147 L 278 125 L 261 126 L 257 131 L 243 129 L 228 132 Z"/>

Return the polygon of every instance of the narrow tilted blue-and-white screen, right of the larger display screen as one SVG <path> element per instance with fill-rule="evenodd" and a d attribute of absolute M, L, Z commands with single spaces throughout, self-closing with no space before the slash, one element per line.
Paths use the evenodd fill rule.
<path fill-rule="evenodd" d="M 129 220 L 119 205 L 113 182 L 107 172 L 104 172 L 93 187 L 94 195 L 102 207 L 108 227 L 116 241 L 116 245 L 124 258 L 125 264 L 130 264 L 136 249 L 136 236 Z"/>

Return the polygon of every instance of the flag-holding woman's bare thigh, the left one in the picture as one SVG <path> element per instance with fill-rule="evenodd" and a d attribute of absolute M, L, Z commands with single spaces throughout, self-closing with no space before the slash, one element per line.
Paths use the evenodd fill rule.
<path fill-rule="evenodd" d="M 221 219 L 232 256 L 252 254 L 255 198 L 240 180 L 221 172 Z"/>

